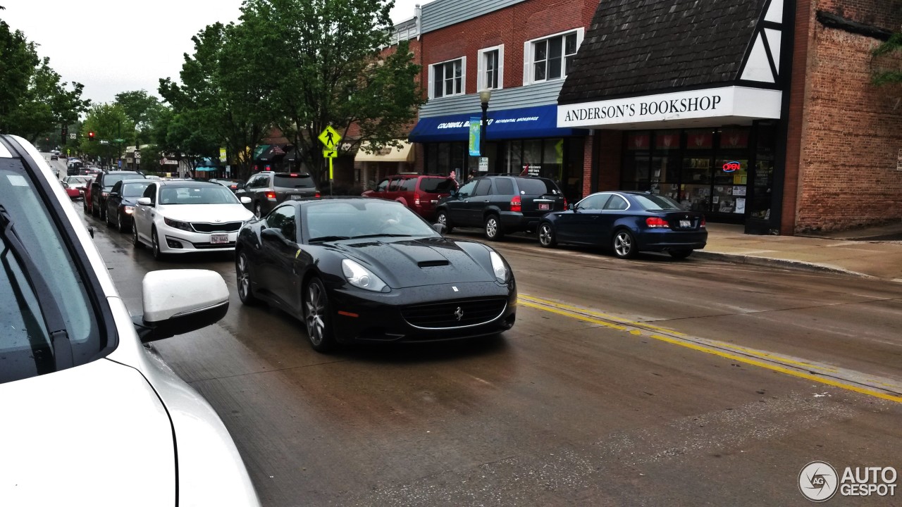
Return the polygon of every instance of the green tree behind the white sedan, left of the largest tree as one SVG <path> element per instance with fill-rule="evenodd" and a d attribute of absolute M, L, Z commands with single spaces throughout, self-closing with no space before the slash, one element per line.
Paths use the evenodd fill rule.
<path fill-rule="evenodd" d="M 207 143 L 215 139 L 226 147 L 235 172 L 247 178 L 253 146 L 260 143 L 269 126 L 267 111 L 260 106 L 267 77 L 252 75 L 249 67 L 253 58 L 266 57 L 237 51 L 235 30 L 234 23 L 215 23 L 195 35 L 194 55 L 185 55 L 179 73 L 181 84 L 161 79 L 160 95 L 180 116 L 170 134 L 193 133 L 193 139 L 178 142 L 187 148 L 186 153 L 206 154 Z M 176 140 L 170 139 L 170 144 Z"/>

